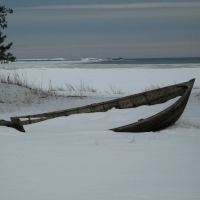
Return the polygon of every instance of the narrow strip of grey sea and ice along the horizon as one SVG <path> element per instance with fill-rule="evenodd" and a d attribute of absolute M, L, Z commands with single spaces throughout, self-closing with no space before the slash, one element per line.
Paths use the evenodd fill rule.
<path fill-rule="evenodd" d="M 0 69 L 22 68 L 200 68 L 200 57 L 189 58 L 81 58 L 81 59 L 18 59 L 1 64 Z"/>

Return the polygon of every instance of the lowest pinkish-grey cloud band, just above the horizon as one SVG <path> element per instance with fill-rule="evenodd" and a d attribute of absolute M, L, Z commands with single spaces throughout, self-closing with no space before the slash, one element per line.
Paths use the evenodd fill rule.
<path fill-rule="evenodd" d="M 98 43 L 98 44 L 37 44 L 13 48 L 18 58 L 80 58 L 114 57 L 174 57 L 198 56 L 200 41 L 139 42 L 139 43 Z"/>

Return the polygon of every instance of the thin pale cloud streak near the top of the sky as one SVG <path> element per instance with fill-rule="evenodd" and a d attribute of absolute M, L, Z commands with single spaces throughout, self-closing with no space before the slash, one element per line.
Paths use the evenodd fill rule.
<path fill-rule="evenodd" d="M 78 4 L 78 5 L 54 5 L 37 7 L 20 7 L 18 9 L 33 10 L 55 10 L 55 9 L 138 9 L 138 8 L 192 8 L 200 7 L 200 2 L 180 2 L 180 3 L 128 3 L 128 4 Z"/>

